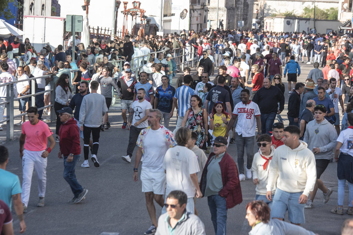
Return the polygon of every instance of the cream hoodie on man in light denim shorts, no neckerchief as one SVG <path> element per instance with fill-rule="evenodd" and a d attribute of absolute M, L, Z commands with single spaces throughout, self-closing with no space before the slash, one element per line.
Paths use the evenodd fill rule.
<path fill-rule="evenodd" d="M 272 191 L 276 182 L 277 188 L 289 193 L 303 192 L 309 196 L 310 191 L 313 191 L 316 162 L 305 142 L 299 141 L 295 149 L 282 145 L 275 150 L 270 163 L 267 191 Z"/>

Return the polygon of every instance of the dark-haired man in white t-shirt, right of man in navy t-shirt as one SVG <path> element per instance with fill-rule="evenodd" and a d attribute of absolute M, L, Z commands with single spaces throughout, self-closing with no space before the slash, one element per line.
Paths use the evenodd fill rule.
<path fill-rule="evenodd" d="M 335 106 L 335 115 L 336 121 L 333 123 L 335 125 L 337 135 L 340 135 L 340 114 L 338 110 L 338 102 L 340 101 L 340 105 L 342 108 L 342 115 L 345 113 L 345 106 L 342 100 L 342 91 L 341 88 L 336 87 L 337 81 L 335 78 L 330 78 L 330 87 L 326 90 L 329 94 L 330 99 L 332 100 Z"/>

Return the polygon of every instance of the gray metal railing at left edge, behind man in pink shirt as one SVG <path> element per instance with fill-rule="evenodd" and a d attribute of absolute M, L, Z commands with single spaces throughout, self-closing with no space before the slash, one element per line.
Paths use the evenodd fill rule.
<path fill-rule="evenodd" d="M 41 91 L 41 92 L 35 92 L 35 79 L 48 78 L 48 77 L 50 77 L 49 78 L 50 89 L 45 90 L 45 91 Z M 16 86 L 16 84 L 18 82 L 24 82 L 24 81 L 30 81 L 31 94 L 23 95 L 21 97 L 15 97 L 16 94 L 14 91 L 14 86 Z M 29 78 L 29 79 L 24 79 L 24 80 L 19 80 L 19 81 L 8 82 L 8 83 L 1 84 L 0 87 L 6 87 L 6 100 L 3 102 L 0 102 L 0 105 L 4 105 L 4 104 L 6 105 L 6 119 L 0 119 L 0 124 L 6 122 L 6 141 L 13 140 L 13 138 L 14 138 L 14 135 L 13 135 L 14 119 L 27 115 L 27 112 L 20 113 L 19 115 L 14 115 L 14 101 L 18 101 L 23 98 L 30 98 L 31 104 L 32 104 L 32 106 L 34 106 L 35 105 L 35 97 L 37 95 L 44 94 L 46 92 L 50 92 L 50 104 L 44 105 L 43 107 L 38 108 L 38 111 L 54 106 L 55 96 L 54 96 L 54 89 L 53 89 L 54 81 L 53 81 L 52 74 L 51 75 L 44 75 L 44 76 L 40 76 L 40 77 L 36 77 L 36 78 Z M 53 111 L 54 110 L 52 110 L 50 112 L 50 122 L 53 122 L 53 120 L 56 119 L 54 116 L 55 112 L 53 112 Z"/>

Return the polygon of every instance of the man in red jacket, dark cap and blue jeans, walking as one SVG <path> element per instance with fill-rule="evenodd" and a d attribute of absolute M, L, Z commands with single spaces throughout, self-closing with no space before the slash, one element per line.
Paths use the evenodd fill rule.
<path fill-rule="evenodd" d="M 70 204 L 78 203 L 83 200 L 88 192 L 78 183 L 75 175 L 76 163 L 80 159 L 81 146 L 80 135 L 76 120 L 72 117 L 72 109 L 63 107 L 58 111 L 60 122 L 60 150 L 58 157 L 64 155 L 64 179 L 70 185 L 74 197 L 68 202 Z"/>

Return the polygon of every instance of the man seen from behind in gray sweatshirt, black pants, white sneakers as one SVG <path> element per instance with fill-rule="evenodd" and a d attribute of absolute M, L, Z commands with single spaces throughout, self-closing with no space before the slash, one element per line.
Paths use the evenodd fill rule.
<path fill-rule="evenodd" d="M 83 97 L 80 107 L 80 130 L 83 131 L 83 153 L 85 157 L 85 161 L 82 165 L 86 165 L 83 167 L 89 167 L 89 139 L 92 132 L 93 155 L 91 160 L 93 161 L 95 167 L 99 167 L 99 162 L 97 160 L 99 134 L 101 131 L 102 116 L 108 112 L 108 108 L 104 96 L 97 93 L 99 83 L 97 81 L 91 81 L 90 84 L 91 93 Z"/>

